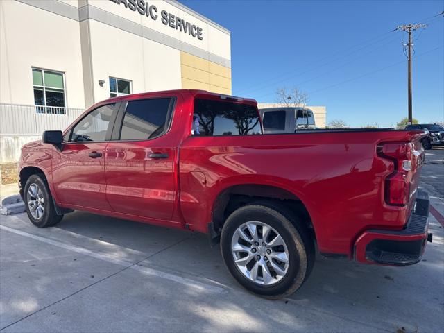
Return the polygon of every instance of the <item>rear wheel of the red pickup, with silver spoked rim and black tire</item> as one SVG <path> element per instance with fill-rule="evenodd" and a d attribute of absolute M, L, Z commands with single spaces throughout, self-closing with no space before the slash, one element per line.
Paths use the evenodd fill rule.
<path fill-rule="evenodd" d="M 237 282 L 273 299 L 294 293 L 314 264 L 313 240 L 302 221 L 286 207 L 266 203 L 246 205 L 228 217 L 221 252 Z"/>

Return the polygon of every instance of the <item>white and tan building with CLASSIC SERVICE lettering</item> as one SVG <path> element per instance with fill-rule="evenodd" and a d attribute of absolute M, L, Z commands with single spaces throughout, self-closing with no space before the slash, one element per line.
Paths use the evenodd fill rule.
<path fill-rule="evenodd" d="M 172 0 L 0 1 L 0 161 L 110 96 L 231 94 L 230 31 Z"/>

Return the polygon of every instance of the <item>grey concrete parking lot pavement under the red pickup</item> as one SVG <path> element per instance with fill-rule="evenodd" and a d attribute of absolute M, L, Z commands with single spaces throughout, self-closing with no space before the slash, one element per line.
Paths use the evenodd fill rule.
<path fill-rule="evenodd" d="M 427 163 L 422 173 L 441 214 L 432 176 L 443 169 Z M 203 234 L 85 212 L 46 229 L 26 214 L 0 216 L 0 330 L 442 332 L 444 229 L 434 216 L 430 229 L 434 241 L 419 264 L 318 256 L 293 296 L 271 301 L 239 287 Z"/>

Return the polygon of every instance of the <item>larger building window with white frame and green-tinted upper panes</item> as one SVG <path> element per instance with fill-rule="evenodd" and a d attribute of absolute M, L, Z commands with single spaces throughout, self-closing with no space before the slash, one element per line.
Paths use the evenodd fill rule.
<path fill-rule="evenodd" d="M 33 85 L 37 113 L 66 114 L 65 74 L 33 68 Z"/>

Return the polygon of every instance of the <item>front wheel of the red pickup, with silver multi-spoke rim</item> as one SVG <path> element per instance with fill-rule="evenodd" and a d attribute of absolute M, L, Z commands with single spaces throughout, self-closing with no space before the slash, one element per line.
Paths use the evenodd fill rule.
<path fill-rule="evenodd" d="M 56 212 L 51 191 L 42 175 L 31 175 L 26 181 L 24 203 L 26 214 L 36 227 L 52 227 L 63 218 Z"/>

